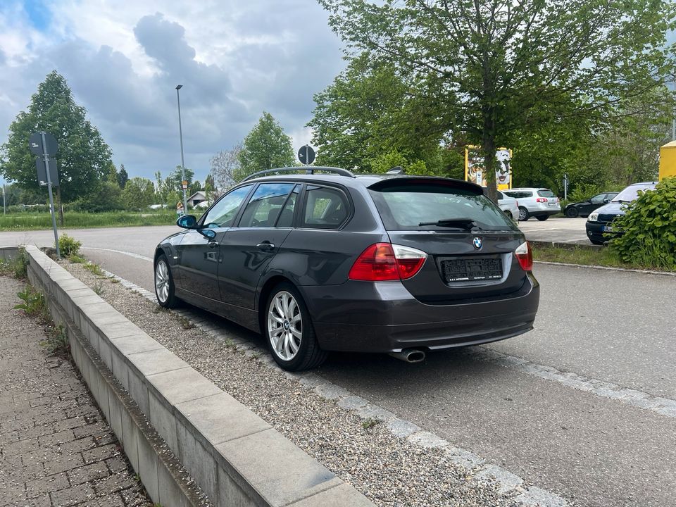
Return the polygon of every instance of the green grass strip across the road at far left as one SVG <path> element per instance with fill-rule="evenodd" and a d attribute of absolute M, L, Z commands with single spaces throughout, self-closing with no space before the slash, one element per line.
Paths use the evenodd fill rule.
<path fill-rule="evenodd" d="M 172 225 L 177 218 L 174 210 L 111 211 L 108 213 L 63 213 L 63 227 L 123 227 L 125 225 Z M 58 217 L 57 217 L 58 224 Z M 51 229 L 49 213 L 0 214 L 0 230 Z"/>

